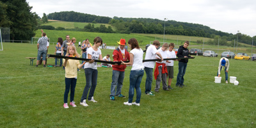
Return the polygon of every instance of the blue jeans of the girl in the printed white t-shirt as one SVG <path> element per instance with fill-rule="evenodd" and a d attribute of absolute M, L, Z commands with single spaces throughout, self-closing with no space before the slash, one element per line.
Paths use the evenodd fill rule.
<path fill-rule="evenodd" d="M 84 86 L 84 92 L 81 97 L 81 102 L 86 99 L 88 92 L 88 100 L 91 100 L 97 86 L 98 70 L 93 68 L 84 68 L 84 74 L 86 78 L 86 85 Z"/>

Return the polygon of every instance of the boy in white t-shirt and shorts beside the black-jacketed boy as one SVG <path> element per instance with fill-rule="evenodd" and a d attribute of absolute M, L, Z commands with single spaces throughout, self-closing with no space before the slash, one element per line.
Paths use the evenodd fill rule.
<path fill-rule="evenodd" d="M 175 51 L 173 51 L 173 48 L 174 48 L 174 44 L 173 43 L 170 43 L 169 44 L 169 49 L 167 52 L 167 58 L 176 58 L 176 54 L 175 54 Z M 168 72 L 168 88 L 169 89 L 173 89 L 171 87 L 171 84 L 172 84 L 172 79 L 173 79 L 173 60 L 169 60 L 170 63 L 166 63 L 166 66 L 167 66 L 167 72 Z"/>

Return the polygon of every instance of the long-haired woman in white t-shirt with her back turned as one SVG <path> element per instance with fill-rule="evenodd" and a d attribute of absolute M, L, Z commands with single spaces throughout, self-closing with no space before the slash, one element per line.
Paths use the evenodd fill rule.
<path fill-rule="evenodd" d="M 141 97 L 141 89 L 140 83 L 141 79 L 144 75 L 144 65 L 143 65 L 143 50 L 141 50 L 138 41 L 135 38 L 131 38 L 128 41 L 129 47 L 131 47 L 130 51 L 130 62 L 122 64 L 124 65 L 132 65 L 131 73 L 130 73 L 130 88 L 129 88 L 129 100 L 124 102 L 125 105 L 131 106 L 132 104 L 136 106 L 140 106 L 140 97 Z M 132 102 L 134 96 L 134 88 L 136 89 L 136 101 Z"/>

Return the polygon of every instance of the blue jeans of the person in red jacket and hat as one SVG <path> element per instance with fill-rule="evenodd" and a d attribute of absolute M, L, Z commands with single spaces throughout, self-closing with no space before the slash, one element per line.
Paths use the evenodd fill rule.
<path fill-rule="evenodd" d="M 123 82 L 124 82 L 124 72 L 113 70 L 112 83 L 111 83 L 110 95 L 109 95 L 110 97 L 115 97 L 115 95 L 121 94 Z"/>

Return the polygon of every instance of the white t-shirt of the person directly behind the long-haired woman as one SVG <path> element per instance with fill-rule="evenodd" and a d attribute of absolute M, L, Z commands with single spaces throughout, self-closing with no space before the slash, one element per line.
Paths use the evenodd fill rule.
<path fill-rule="evenodd" d="M 156 59 L 156 52 L 157 52 L 157 49 L 156 49 L 155 45 L 148 46 L 148 49 L 146 51 L 145 60 Z M 147 61 L 147 62 L 144 62 L 143 65 L 144 65 L 144 67 L 154 68 L 155 63 L 156 63 L 155 61 Z"/>

